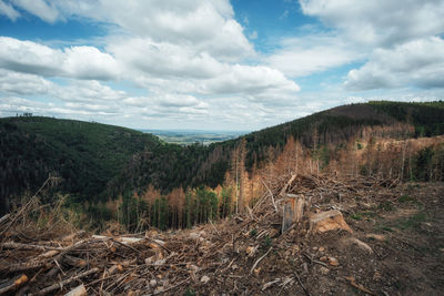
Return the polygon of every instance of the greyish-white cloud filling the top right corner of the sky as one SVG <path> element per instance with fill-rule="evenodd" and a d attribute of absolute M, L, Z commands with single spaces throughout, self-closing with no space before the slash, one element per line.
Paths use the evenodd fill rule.
<path fill-rule="evenodd" d="M 302 11 L 359 43 L 391 47 L 444 31 L 441 0 L 300 0 Z"/>

